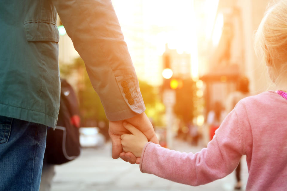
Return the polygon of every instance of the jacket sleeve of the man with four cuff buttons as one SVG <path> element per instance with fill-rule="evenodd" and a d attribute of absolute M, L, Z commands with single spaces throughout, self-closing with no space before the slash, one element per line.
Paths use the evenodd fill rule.
<path fill-rule="evenodd" d="M 138 79 L 112 2 L 52 1 L 85 62 L 107 118 L 118 121 L 144 112 Z"/>

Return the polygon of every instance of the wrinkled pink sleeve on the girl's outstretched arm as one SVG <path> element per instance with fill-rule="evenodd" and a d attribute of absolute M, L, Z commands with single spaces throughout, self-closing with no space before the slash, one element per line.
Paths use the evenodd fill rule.
<path fill-rule="evenodd" d="M 141 172 L 192 186 L 207 184 L 230 174 L 245 154 L 245 133 L 240 130 L 245 128 L 242 126 L 248 126 L 248 122 L 238 118 L 243 111 L 237 112 L 233 110 L 228 114 L 207 148 L 198 153 L 181 153 L 148 142 L 141 155 Z"/>

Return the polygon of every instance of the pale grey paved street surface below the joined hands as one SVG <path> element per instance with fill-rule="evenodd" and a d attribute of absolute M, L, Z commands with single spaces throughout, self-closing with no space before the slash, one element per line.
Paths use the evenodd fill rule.
<path fill-rule="evenodd" d="M 138 165 L 121 159 L 112 159 L 110 143 L 98 148 L 83 149 L 80 158 L 56 167 L 52 191 L 97 190 L 97 191 L 185 191 L 185 190 L 233 190 L 234 172 L 212 183 L 191 187 L 144 174 Z M 175 140 L 174 149 L 181 152 L 197 152 L 201 147 Z M 248 178 L 245 157 L 242 158 L 242 181 L 244 187 Z M 244 190 L 244 189 L 242 189 Z"/>

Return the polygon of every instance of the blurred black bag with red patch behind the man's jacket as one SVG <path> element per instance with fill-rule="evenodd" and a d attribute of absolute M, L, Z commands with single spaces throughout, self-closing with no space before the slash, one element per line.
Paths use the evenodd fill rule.
<path fill-rule="evenodd" d="M 48 164 L 63 164 L 80 155 L 80 117 L 76 94 L 61 79 L 61 99 L 57 127 L 47 131 L 45 158 Z"/>

